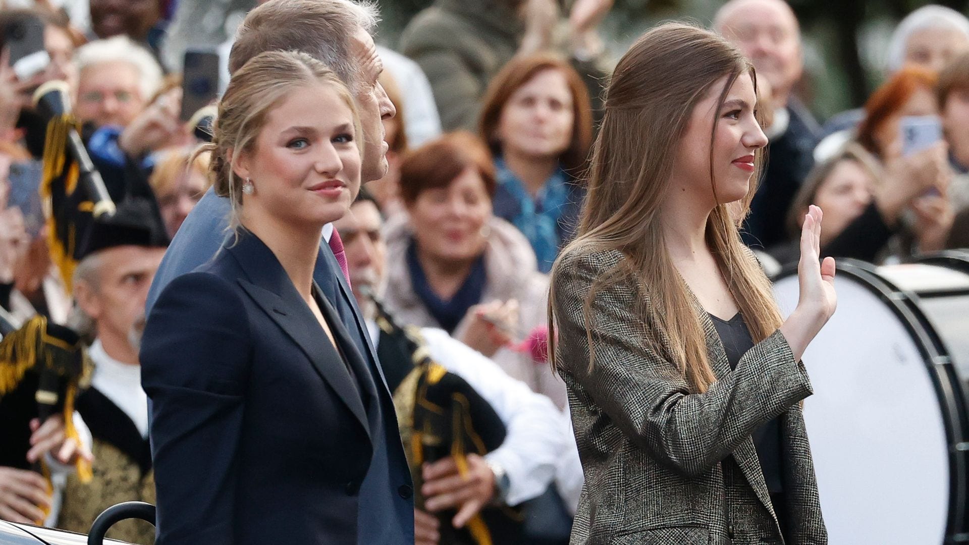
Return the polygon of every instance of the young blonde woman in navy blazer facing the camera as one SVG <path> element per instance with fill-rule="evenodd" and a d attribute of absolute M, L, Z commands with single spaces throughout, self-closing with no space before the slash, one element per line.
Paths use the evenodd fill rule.
<path fill-rule="evenodd" d="M 158 543 L 357 543 L 379 385 L 313 281 L 359 190 L 353 98 L 319 60 L 265 52 L 214 132 L 234 237 L 165 288 L 142 337 Z"/>

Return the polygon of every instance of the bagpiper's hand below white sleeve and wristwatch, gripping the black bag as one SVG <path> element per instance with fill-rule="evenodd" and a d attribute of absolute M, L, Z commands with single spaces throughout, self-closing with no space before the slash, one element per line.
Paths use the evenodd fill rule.
<path fill-rule="evenodd" d="M 469 454 L 467 462 L 468 473 L 464 476 L 452 457 L 423 466 L 424 507 L 432 513 L 456 508 L 454 528 L 463 528 L 494 497 L 494 473 L 485 459 Z"/>

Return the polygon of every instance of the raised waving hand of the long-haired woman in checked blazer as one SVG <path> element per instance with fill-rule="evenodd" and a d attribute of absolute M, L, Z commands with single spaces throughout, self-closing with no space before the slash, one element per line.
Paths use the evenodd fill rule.
<path fill-rule="evenodd" d="M 797 308 L 781 326 L 795 358 L 800 359 L 821 328 L 828 322 L 837 306 L 834 293 L 834 258 L 821 262 L 821 208 L 811 205 L 804 216 L 800 232 L 800 261 L 797 262 L 797 279 L 800 294 Z"/>

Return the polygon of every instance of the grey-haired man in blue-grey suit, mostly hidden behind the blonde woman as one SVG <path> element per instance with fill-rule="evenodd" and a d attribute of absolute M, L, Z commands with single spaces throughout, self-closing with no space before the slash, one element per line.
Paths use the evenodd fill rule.
<path fill-rule="evenodd" d="M 383 70 L 369 32 L 377 21 L 373 8 L 350 0 L 271 0 L 250 12 L 242 22 L 230 54 L 235 72 L 260 52 L 297 49 L 326 62 L 347 82 L 359 109 L 365 144 L 361 179 L 366 182 L 387 173 L 387 144 L 382 118 L 396 112 L 377 81 Z M 209 189 L 185 219 L 172 240 L 148 295 L 146 310 L 176 276 L 203 265 L 222 246 L 227 233 L 230 204 Z M 329 226 L 328 226 L 329 227 Z M 363 544 L 414 543 L 414 501 L 410 471 L 397 431 L 391 394 L 365 325 L 344 278 L 345 261 L 339 263 L 339 235 L 325 229 L 314 279 L 367 360 L 378 385 L 380 430 L 371 430 L 374 454 L 359 491 L 358 538 Z M 332 250 L 332 251 L 331 251 Z M 335 255 L 334 255 L 335 254 Z M 334 281 L 335 278 L 335 281 Z M 348 490 L 348 494 L 352 494 Z"/>

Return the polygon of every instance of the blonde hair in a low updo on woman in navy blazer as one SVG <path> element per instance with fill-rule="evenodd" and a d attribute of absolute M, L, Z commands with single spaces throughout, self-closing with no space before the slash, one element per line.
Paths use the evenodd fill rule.
<path fill-rule="evenodd" d="M 229 227 L 238 227 L 242 206 L 242 183 L 234 165 L 243 153 L 255 151 L 266 116 L 298 87 L 324 83 L 350 108 L 354 117 L 355 140 L 363 155 L 357 104 L 346 83 L 322 61 L 300 51 L 266 51 L 246 62 L 229 81 L 219 101 L 218 116 L 212 125 L 212 142 L 203 144 L 196 155 L 210 152 L 208 176 L 215 194 L 232 203 Z"/>

